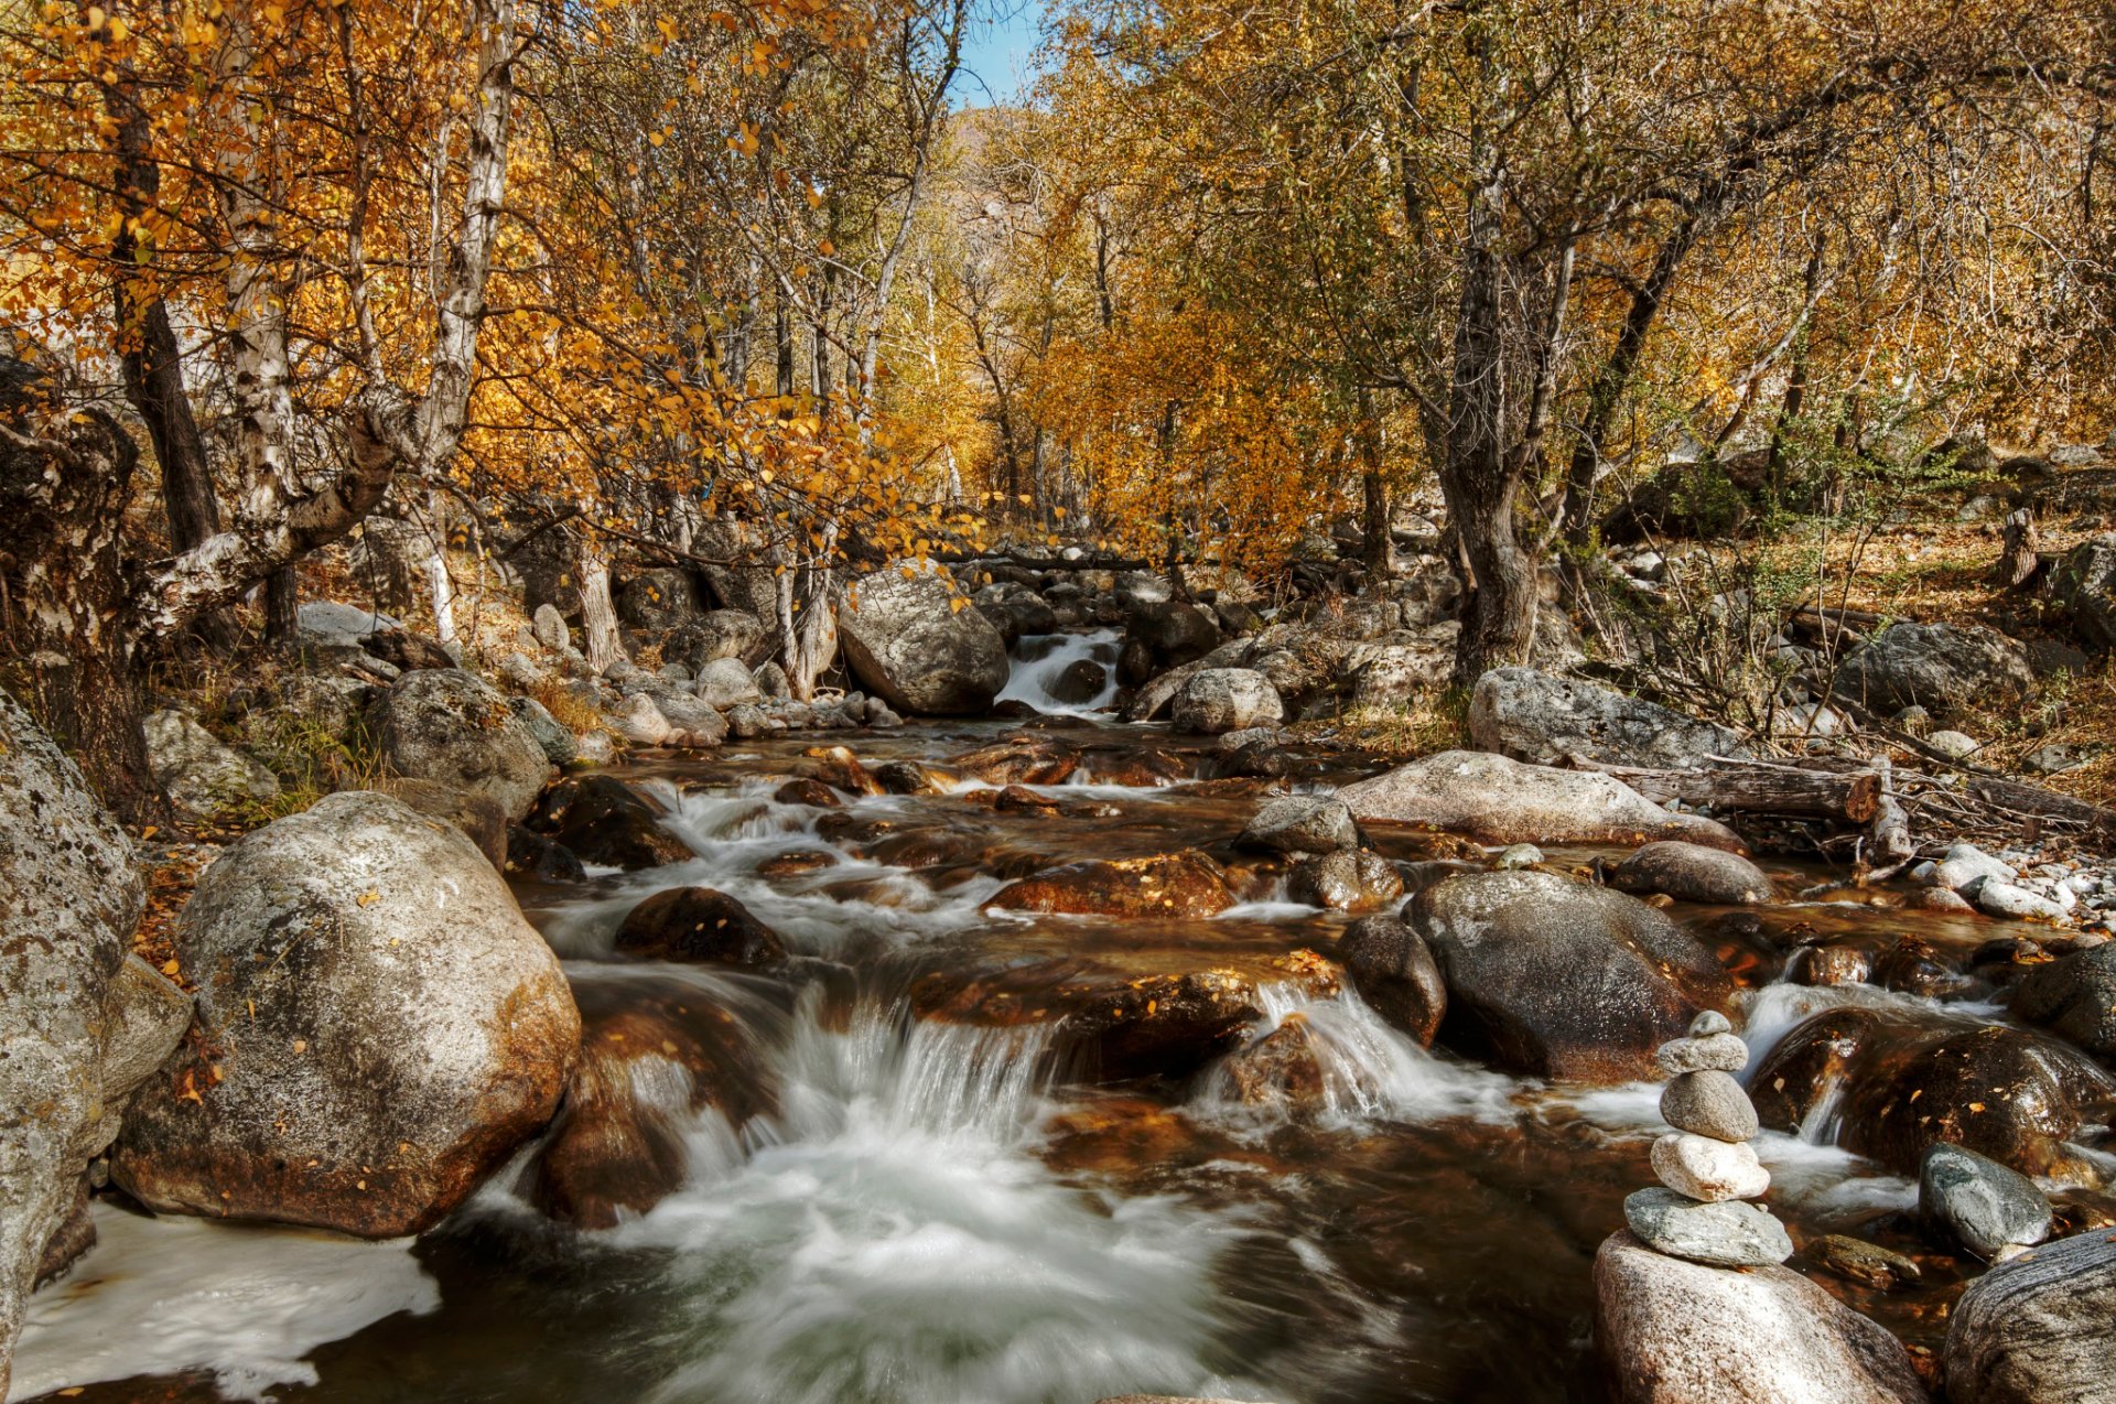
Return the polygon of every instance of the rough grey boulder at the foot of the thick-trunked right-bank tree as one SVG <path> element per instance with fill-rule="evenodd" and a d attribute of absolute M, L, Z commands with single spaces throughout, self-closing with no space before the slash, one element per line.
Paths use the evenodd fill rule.
<path fill-rule="evenodd" d="M 1477 679 L 1469 734 L 1479 751 L 1536 765 L 1576 755 L 1665 770 L 1703 765 L 1714 755 L 1748 755 L 1741 738 L 1722 725 L 1534 668 L 1492 668 Z"/>

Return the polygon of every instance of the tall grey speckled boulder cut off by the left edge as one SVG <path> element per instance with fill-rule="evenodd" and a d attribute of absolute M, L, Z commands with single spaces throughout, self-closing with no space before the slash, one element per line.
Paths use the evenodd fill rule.
<path fill-rule="evenodd" d="M 0 1398 L 89 1159 L 190 1021 L 190 1000 L 125 954 L 144 907 L 131 839 L 0 691 Z"/>

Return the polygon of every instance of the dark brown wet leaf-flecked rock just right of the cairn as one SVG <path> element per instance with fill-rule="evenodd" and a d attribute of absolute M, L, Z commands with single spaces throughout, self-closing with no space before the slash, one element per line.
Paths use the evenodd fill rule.
<path fill-rule="evenodd" d="M 2116 1080 L 2023 1030 L 1830 1009 L 1788 1032 L 1748 1091 L 1763 1125 L 1780 1131 L 1832 1106 L 1837 1144 L 1904 1176 L 1940 1142 L 2044 1176 L 2076 1163 L 2063 1142 L 2088 1108 L 2116 1097 Z"/>

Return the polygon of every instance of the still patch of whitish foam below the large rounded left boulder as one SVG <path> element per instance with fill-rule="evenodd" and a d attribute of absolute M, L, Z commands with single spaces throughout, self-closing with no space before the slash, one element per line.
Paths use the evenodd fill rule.
<path fill-rule="evenodd" d="M 317 1383 L 315 1347 L 440 1307 L 413 1239 L 93 1214 L 97 1245 L 30 1298 L 8 1400 L 188 1370 L 209 1370 L 231 1400 L 264 1400 Z"/>

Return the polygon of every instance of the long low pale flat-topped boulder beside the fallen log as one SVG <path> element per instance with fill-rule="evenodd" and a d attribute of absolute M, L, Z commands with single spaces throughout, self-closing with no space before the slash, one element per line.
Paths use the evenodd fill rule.
<path fill-rule="evenodd" d="M 1346 784 L 1361 820 L 1466 833 L 1483 844 L 1642 844 L 1689 839 L 1741 850 L 1731 829 L 1674 814 L 1593 770 L 1526 765 L 1481 751 L 1441 751 Z"/>

